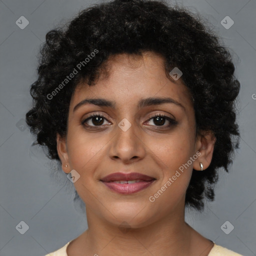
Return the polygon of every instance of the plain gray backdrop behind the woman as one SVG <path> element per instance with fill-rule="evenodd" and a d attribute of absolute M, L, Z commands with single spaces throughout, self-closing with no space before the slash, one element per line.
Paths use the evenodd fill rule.
<path fill-rule="evenodd" d="M 208 202 L 201 214 L 187 210 L 185 218 L 216 244 L 256 255 L 256 1 L 178 2 L 199 11 L 223 37 L 233 52 L 241 82 L 237 101 L 240 149 L 229 173 L 220 170 L 215 201 Z M 72 201 L 70 185 L 66 189 L 64 183 L 58 183 L 56 179 L 61 177 L 51 175 L 43 151 L 31 148 L 33 138 L 24 115 L 31 104 L 28 91 L 36 78 L 36 54 L 46 32 L 91 3 L 94 1 L 0 0 L 0 256 L 44 255 L 87 228 L 84 214 Z M 24 29 L 15 23 L 22 15 L 29 21 Z M 234 21 L 229 29 L 220 23 L 227 15 Z M 56 163 L 51 164 L 54 169 Z M 24 234 L 15 228 L 20 221 L 29 226 Z M 225 221 L 234 226 L 229 234 L 220 228 Z"/>

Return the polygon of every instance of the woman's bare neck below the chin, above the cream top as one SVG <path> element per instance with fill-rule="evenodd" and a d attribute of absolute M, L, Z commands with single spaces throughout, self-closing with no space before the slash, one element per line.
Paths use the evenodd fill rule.
<path fill-rule="evenodd" d="M 193 229 L 184 221 L 184 210 L 139 228 L 113 225 L 88 208 L 86 214 L 88 229 L 80 237 L 79 248 L 83 254 L 190 255 Z"/>

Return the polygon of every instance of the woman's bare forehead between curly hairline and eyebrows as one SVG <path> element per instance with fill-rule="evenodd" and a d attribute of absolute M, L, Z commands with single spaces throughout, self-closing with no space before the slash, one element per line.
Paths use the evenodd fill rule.
<path fill-rule="evenodd" d="M 75 88 L 70 107 L 84 98 L 108 98 L 117 105 L 136 104 L 145 97 L 172 97 L 191 106 L 191 96 L 182 79 L 166 74 L 164 58 L 153 52 L 141 56 L 118 54 L 108 58 L 95 84 L 81 82 Z"/>

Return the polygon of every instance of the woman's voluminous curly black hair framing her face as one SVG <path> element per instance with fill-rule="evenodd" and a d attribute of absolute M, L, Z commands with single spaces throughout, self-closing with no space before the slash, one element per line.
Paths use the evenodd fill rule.
<path fill-rule="evenodd" d="M 144 51 L 161 54 L 166 73 L 173 67 L 182 71 L 194 99 L 197 132 L 212 131 L 216 137 L 210 165 L 192 172 L 186 190 L 185 205 L 201 211 L 204 198 L 214 199 L 217 169 L 228 172 L 238 147 L 235 98 L 240 83 L 228 49 L 184 7 L 156 0 L 113 0 L 86 8 L 66 26 L 50 30 L 40 50 L 38 78 L 30 88 L 33 106 L 26 113 L 36 135 L 33 144 L 46 146 L 48 157 L 60 161 L 56 134 L 66 135 L 69 102 L 79 81 L 95 84 L 110 55 Z M 74 77 L 65 80 L 74 70 Z"/>

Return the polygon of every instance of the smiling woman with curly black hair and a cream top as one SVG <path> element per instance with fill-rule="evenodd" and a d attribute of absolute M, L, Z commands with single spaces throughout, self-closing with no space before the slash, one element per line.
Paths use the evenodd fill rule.
<path fill-rule="evenodd" d="M 47 33 L 26 121 L 88 223 L 51 256 L 239 255 L 184 221 L 237 146 L 233 72 L 217 36 L 159 1 L 101 3 Z"/>

